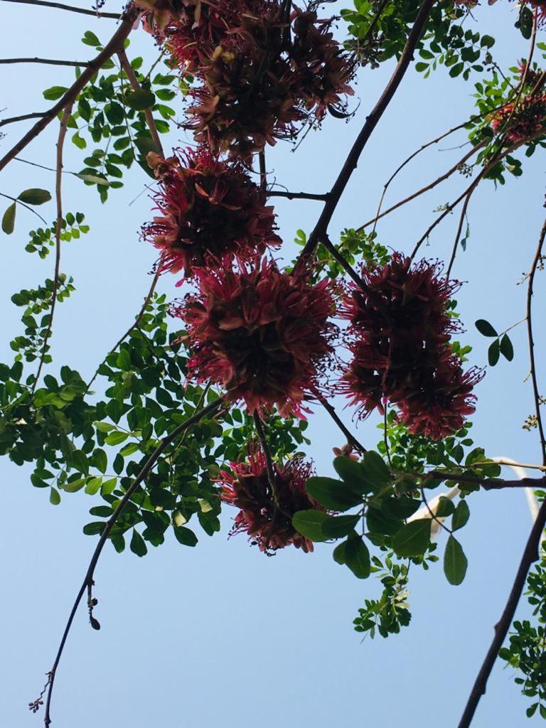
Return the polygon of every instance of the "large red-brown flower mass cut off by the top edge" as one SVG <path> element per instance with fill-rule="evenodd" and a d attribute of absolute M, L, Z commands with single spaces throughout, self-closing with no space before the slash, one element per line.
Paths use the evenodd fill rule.
<path fill-rule="evenodd" d="M 344 113 L 356 64 L 333 39 L 333 20 L 300 9 L 283 17 L 278 0 L 138 1 L 145 28 L 200 81 L 189 108 L 197 141 L 248 159 L 328 108 Z"/>

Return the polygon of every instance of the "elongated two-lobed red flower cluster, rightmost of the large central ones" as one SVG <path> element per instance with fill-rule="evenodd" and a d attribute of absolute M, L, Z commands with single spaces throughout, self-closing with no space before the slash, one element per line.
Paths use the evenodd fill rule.
<path fill-rule="evenodd" d="M 341 391 L 362 416 L 384 411 L 389 400 L 414 434 L 439 439 L 459 430 L 481 376 L 464 373 L 448 344 L 459 326 L 447 306 L 460 284 L 440 277 L 438 264 L 412 266 L 399 253 L 362 274 L 363 288 L 353 285 L 341 311 L 353 355 Z"/>

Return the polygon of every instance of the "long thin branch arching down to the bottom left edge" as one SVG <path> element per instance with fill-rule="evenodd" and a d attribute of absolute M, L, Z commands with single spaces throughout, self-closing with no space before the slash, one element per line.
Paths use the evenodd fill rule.
<path fill-rule="evenodd" d="M 154 452 L 149 456 L 149 458 L 146 460 L 146 463 L 143 465 L 141 471 L 136 476 L 135 480 L 133 480 L 131 486 L 127 488 L 126 493 L 124 494 L 123 498 L 120 500 L 119 505 L 116 507 L 116 510 L 111 515 L 111 517 L 106 521 L 106 526 L 100 535 L 100 539 L 98 541 L 98 544 L 95 547 L 95 550 L 92 553 L 92 557 L 89 563 L 89 566 L 87 567 L 87 571 L 85 573 L 84 580 L 82 582 L 82 586 L 79 588 L 79 592 L 76 596 L 76 600 L 74 601 L 74 605 L 72 606 L 71 612 L 68 616 L 68 622 L 66 623 L 65 630 L 63 632 L 63 637 L 61 638 L 59 649 L 57 652 L 57 655 L 55 656 L 55 662 L 53 662 L 53 666 L 50 670 L 50 673 L 48 673 L 49 679 L 47 683 L 47 700 L 46 700 L 46 708 L 45 708 L 45 716 L 44 716 L 44 725 L 45 728 L 49 728 L 51 723 L 51 714 L 50 714 L 50 708 L 51 708 L 51 698 L 52 698 L 52 692 L 53 687 L 55 684 L 55 676 L 57 674 L 60 658 L 63 655 L 64 646 L 66 644 L 66 639 L 68 638 L 68 634 L 70 633 L 72 622 L 74 622 L 74 617 L 76 616 L 76 612 L 78 610 L 79 604 L 81 604 L 82 597 L 84 596 L 84 593 L 87 590 L 90 590 L 90 588 L 93 585 L 94 575 L 95 575 L 95 569 L 97 568 L 97 563 L 100 558 L 100 554 L 102 553 L 103 547 L 106 544 L 106 541 L 108 540 L 108 536 L 111 533 L 111 530 L 114 528 L 114 525 L 116 524 L 119 516 L 123 513 L 124 508 L 127 506 L 127 503 L 130 502 L 130 499 L 135 494 L 135 491 L 137 490 L 138 486 L 143 483 L 144 480 L 148 477 L 149 473 L 151 472 L 154 465 L 159 460 L 159 457 L 162 456 L 162 454 L 165 452 L 168 446 L 170 446 L 171 443 L 173 443 L 180 435 L 183 434 L 183 432 L 186 432 L 186 430 L 189 429 L 189 427 L 192 427 L 194 424 L 197 424 L 200 420 L 203 419 L 203 417 L 213 414 L 218 408 L 220 407 L 221 403 L 223 403 L 223 397 L 218 397 L 217 400 L 214 400 L 214 402 L 210 403 L 210 405 L 207 405 L 206 407 L 202 408 L 199 412 L 191 416 L 189 419 L 186 419 L 186 422 L 183 422 L 176 427 L 173 432 L 170 433 L 170 435 L 166 435 L 165 438 L 162 438 L 161 442 L 155 448 Z M 92 606 L 92 605 L 90 605 Z M 98 625 L 100 626 L 100 625 Z"/>

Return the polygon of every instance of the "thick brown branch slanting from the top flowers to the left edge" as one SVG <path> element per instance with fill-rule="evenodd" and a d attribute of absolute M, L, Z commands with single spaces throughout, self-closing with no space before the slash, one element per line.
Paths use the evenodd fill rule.
<path fill-rule="evenodd" d="M 15 146 L 13 146 L 12 149 L 4 155 L 4 157 L 2 157 L 2 159 L 0 159 L 0 170 L 3 170 L 14 157 L 17 157 L 17 154 L 25 149 L 25 146 L 31 143 L 31 141 L 33 141 L 33 139 L 35 139 L 45 129 L 45 127 L 47 127 L 47 124 L 50 124 L 50 122 L 55 119 L 55 116 L 60 114 L 61 111 L 64 111 L 69 104 L 74 103 L 79 92 L 87 85 L 90 79 L 92 79 L 92 76 L 94 76 L 97 71 L 102 68 L 103 64 L 106 63 L 106 61 L 111 58 L 114 53 L 123 49 L 124 40 L 132 30 L 132 25 L 135 21 L 136 15 L 137 12 L 135 9 L 127 11 L 124 15 L 124 19 L 119 24 L 119 28 L 114 33 L 114 36 L 112 36 L 110 41 L 108 41 L 108 44 L 106 44 L 106 47 L 100 51 L 98 56 L 96 56 L 93 60 L 90 60 L 89 65 L 84 69 L 84 71 L 82 71 L 82 74 L 80 74 L 79 78 L 76 79 L 76 82 L 74 82 L 74 84 L 72 84 L 66 93 L 58 100 L 58 102 L 55 103 L 55 106 L 52 106 L 49 111 L 45 111 L 39 122 L 36 122 L 32 129 L 29 130 L 23 138 L 20 139 L 20 141 L 18 141 L 17 144 L 15 144 Z"/>

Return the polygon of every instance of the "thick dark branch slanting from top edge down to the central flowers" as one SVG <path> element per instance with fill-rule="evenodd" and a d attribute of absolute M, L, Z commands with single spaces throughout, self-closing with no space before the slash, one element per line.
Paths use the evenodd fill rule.
<path fill-rule="evenodd" d="M 424 0 L 421 9 L 419 9 L 414 27 L 411 28 L 411 33 L 405 43 L 395 71 L 376 103 L 376 106 L 373 107 L 369 116 L 366 118 L 365 124 L 360 130 L 360 134 L 357 136 L 351 151 L 349 151 L 349 155 L 341 168 L 341 172 L 339 173 L 335 183 L 333 183 L 328 199 L 325 202 L 323 212 L 321 213 L 313 232 L 309 236 L 309 240 L 306 242 L 304 249 L 301 251 L 298 264 L 304 264 L 306 258 L 309 258 L 309 256 L 312 255 L 318 242 L 320 242 L 320 240 L 327 234 L 333 213 L 336 211 L 341 195 L 344 193 L 347 183 L 357 167 L 360 154 L 362 154 L 366 143 L 368 143 L 368 139 L 371 137 L 373 130 L 376 128 L 377 124 L 379 124 L 381 116 L 383 116 L 384 112 L 387 110 L 397 88 L 400 86 L 400 82 L 405 76 L 405 72 L 408 70 L 411 60 L 414 58 L 414 51 L 422 36 L 424 25 L 427 23 L 434 1 L 435 0 Z"/>

